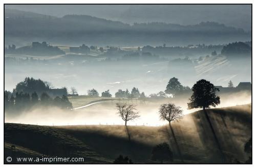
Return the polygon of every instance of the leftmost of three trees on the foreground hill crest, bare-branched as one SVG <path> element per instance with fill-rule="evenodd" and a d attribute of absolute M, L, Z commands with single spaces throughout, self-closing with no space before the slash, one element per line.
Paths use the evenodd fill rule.
<path fill-rule="evenodd" d="M 139 112 L 135 108 L 136 105 L 126 104 L 126 103 L 116 103 L 116 108 L 118 109 L 118 114 L 125 121 L 125 126 L 127 121 L 135 120 L 139 118 Z"/>

